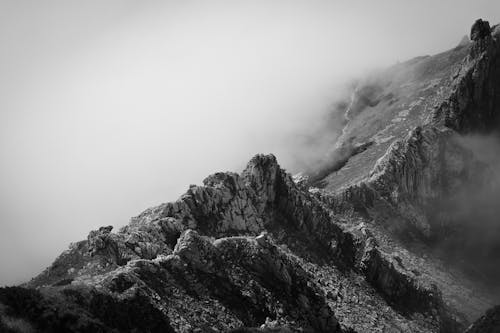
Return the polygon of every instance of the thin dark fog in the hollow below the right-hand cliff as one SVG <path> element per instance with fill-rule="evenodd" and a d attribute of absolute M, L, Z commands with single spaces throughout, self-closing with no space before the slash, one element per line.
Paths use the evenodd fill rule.
<path fill-rule="evenodd" d="M 466 135 L 457 137 L 456 142 L 477 164 L 459 189 L 437 201 L 441 222 L 452 228 L 435 244 L 436 249 L 450 263 L 498 287 L 500 134 Z"/>

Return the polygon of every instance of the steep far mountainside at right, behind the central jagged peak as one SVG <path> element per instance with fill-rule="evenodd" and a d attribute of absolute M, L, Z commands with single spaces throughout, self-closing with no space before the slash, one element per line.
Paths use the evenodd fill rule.
<path fill-rule="evenodd" d="M 477 288 L 477 283 L 460 272 L 448 274 L 437 258 L 418 263 L 430 254 L 422 242 L 439 243 L 463 227 L 442 202 L 495 180 L 490 166 L 460 140 L 461 134 L 500 128 L 498 26 L 492 35 L 489 31 L 488 23 L 478 20 L 471 43 L 396 65 L 363 82 L 347 110 L 350 120 L 338 149 L 367 148 L 354 151 L 341 169 L 315 179 L 321 187 L 316 191 L 336 213 L 370 221 L 381 246 L 433 281 L 469 320 L 488 304 L 461 287 Z M 463 235 L 455 237 L 460 246 Z M 498 258 L 497 252 L 492 260 L 498 263 Z"/>

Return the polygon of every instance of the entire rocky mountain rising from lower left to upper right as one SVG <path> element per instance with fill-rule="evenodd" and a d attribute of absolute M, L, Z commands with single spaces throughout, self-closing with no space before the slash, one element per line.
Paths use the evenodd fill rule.
<path fill-rule="evenodd" d="M 0 331 L 499 332 L 500 238 L 487 236 L 500 226 L 481 234 L 455 201 L 496 193 L 464 142 L 500 129 L 499 26 L 478 20 L 339 105 L 345 127 L 317 168 L 292 177 L 256 155 L 91 231 L 0 289 Z"/>

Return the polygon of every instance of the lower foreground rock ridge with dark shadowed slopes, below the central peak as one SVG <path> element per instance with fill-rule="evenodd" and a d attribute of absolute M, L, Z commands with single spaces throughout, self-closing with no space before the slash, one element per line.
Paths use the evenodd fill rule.
<path fill-rule="evenodd" d="M 19 288 L 21 293 L 29 290 Z M 186 230 L 167 256 L 131 260 L 109 272 L 34 291 L 39 302 L 49 300 L 33 314 L 23 314 L 24 305 L 16 303 L 19 297 L 8 298 L 10 289 L 2 292 L 7 295 L 0 297 L 8 309 L 6 315 L 22 318 L 38 329 L 106 332 L 114 327 L 119 331 L 141 327 L 144 332 L 192 332 L 196 328 L 217 332 L 258 327 L 267 321 L 294 330 L 340 331 L 334 311 L 313 277 L 264 234 L 213 240 Z M 41 318 L 49 311 L 45 306 L 56 307 L 48 324 Z M 125 321 L 112 312 L 121 309 L 125 315 L 128 307 L 135 311 L 134 306 L 146 313 L 136 311 L 136 317 Z M 89 316 L 89 328 L 72 326 L 79 311 Z M 151 318 L 153 315 L 157 318 Z M 143 324 L 145 320 L 149 326 Z"/>

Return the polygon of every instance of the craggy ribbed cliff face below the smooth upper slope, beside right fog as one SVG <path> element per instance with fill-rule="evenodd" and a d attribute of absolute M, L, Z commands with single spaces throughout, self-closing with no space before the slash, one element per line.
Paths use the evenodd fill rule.
<path fill-rule="evenodd" d="M 434 223 L 442 198 L 467 184 L 484 185 L 490 176 L 488 167 L 452 131 L 417 127 L 388 148 L 366 183 L 348 192 L 347 201 L 364 203 L 365 210 L 379 202 L 386 212 L 393 210 L 423 235 L 435 238 L 446 232 L 445 223 Z"/>

